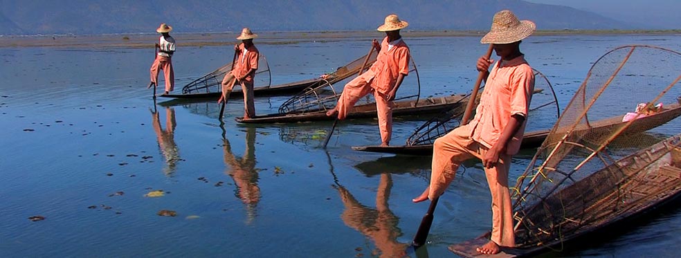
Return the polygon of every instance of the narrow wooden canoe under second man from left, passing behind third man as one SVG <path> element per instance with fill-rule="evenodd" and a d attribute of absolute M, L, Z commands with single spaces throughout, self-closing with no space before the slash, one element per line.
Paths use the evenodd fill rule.
<path fill-rule="evenodd" d="M 467 101 L 465 95 L 451 95 L 442 98 L 425 98 L 418 102 L 416 100 L 401 100 L 394 102 L 392 116 L 416 116 L 425 113 L 437 113 L 443 109 L 463 108 Z M 347 118 L 376 118 L 376 104 L 362 104 L 354 107 Z M 288 122 L 310 122 L 321 120 L 334 120 L 335 116 L 326 116 L 326 110 L 313 111 L 309 113 L 273 113 L 265 116 L 256 116 L 248 120 L 239 117 L 237 122 L 243 123 L 288 123 Z"/>

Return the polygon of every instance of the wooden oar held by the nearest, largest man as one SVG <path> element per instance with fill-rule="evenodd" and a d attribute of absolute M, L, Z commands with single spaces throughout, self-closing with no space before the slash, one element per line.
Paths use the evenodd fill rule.
<path fill-rule="evenodd" d="M 487 48 L 487 53 L 485 53 L 485 59 L 489 59 L 492 55 L 492 44 L 489 44 L 489 48 Z M 461 119 L 461 125 L 466 125 L 468 123 L 469 118 L 471 118 L 471 113 L 473 112 L 473 107 L 475 107 L 475 99 L 478 98 L 478 89 L 480 89 L 480 84 L 482 83 L 482 80 L 484 79 L 484 75 L 487 73 L 487 71 L 480 71 L 478 74 L 478 80 L 475 81 L 475 86 L 473 86 L 473 93 L 471 93 L 471 99 L 469 100 L 468 104 L 466 104 L 466 111 L 464 111 L 464 117 Z M 416 236 L 414 237 L 414 241 L 412 242 L 412 246 L 418 248 L 420 246 L 423 246 L 424 243 L 426 243 L 426 239 L 428 238 L 428 232 L 430 232 L 430 225 L 433 225 L 433 212 L 435 212 L 435 206 L 437 206 L 437 201 L 439 200 L 439 196 L 435 197 L 433 201 L 430 202 L 430 206 L 428 206 L 428 212 L 424 215 L 424 218 L 421 219 L 421 225 L 419 225 L 419 230 L 416 232 Z"/>

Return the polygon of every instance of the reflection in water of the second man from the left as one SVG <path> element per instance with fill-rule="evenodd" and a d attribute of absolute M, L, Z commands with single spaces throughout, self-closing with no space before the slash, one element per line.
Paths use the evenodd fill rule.
<path fill-rule="evenodd" d="M 250 224 L 257 216 L 256 205 L 260 201 L 260 187 L 257 186 L 258 174 L 255 169 L 255 127 L 246 129 L 246 149 L 242 158 L 232 153 L 232 147 L 224 138 L 224 160 L 227 165 L 225 174 L 234 180 L 235 195 L 246 204 L 246 223 Z"/>

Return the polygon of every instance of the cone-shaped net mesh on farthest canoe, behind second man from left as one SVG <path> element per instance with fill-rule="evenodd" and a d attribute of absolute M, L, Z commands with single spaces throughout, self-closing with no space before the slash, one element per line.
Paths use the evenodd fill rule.
<path fill-rule="evenodd" d="M 222 92 L 222 79 L 225 75 L 232 71 L 232 62 L 220 66 L 215 71 L 193 80 L 182 88 L 182 94 L 197 94 L 197 93 L 214 93 Z M 253 87 L 267 87 L 272 83 L 272 75 L 270 73 L 269 64 L 265 55 L 260 54 L 258 58 L 258 69 L 255 71 L 253 77 Z M 235 91 L 241 91 L 240 87 L 235 87 Z"/>

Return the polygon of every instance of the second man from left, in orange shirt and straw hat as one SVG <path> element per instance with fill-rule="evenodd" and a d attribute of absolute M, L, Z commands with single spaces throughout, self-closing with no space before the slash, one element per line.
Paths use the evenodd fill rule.
<path fill-rule="evenodd" d="M 257 61 L 260 58 L 260 52 L 253 44 L 253 39 L 257 34 L 253 34 L 251 29 L 244 28 L 241 35 L 237 39 L 242 41 L 242 44 L 234 45 L 234 50 L 237 52 L 237 59 L 234 63 L 232 71 L 228 72 L 222 80 L 222 92 L 232 92 L 235 83 L 242 86 L 244 93 L 244 120 L 255 117 L 255 103 L 253 102 L 253 78 L 257 70 Z M 218 103 L 229 98 L 229 96 L 221 95 Z"/>

